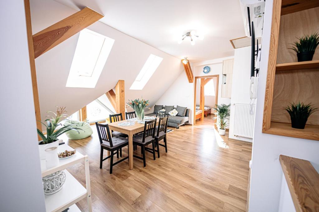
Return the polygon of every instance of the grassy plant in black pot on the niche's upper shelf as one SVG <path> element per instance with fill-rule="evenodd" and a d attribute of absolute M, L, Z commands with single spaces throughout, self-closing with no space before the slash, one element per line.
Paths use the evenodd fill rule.
<path fill-rule="evenodd" d="M 305 35 L 298 38 L 299 42 L 294 42 L 293 47 L 289 48 L 297 52 L 298 62 L 312 60 L 315 49 L 319 44 L 319 34 Z"/>

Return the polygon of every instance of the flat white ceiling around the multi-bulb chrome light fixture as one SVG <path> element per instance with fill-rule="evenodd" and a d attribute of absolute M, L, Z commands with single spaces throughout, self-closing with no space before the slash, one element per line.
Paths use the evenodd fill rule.
<path fill-rule="evenodd" d="M 239 0 L 56 1 L 76 10 L 90 7 L 104 15 L 102 23 L 190 62 L 233 56 L 229 40 L 245 36 Z M 177 44 L 191 30 L 204 40 Z"/>

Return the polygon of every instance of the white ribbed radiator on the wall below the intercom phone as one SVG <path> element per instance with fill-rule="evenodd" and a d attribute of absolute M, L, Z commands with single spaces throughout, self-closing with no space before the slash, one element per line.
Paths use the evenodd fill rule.
<path fill-rule="evenodd" d="M 254 117 L 250 115 L 249 104 L 235 104 L 235 119 L 234 119 L 234 135 L 247 138 L 253 138 L 254 133 Z M 255 105 L 253 106 L 255 113 Z"/>

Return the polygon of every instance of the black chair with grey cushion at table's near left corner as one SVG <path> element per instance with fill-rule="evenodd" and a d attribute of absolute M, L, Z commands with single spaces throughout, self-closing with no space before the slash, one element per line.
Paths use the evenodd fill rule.
<path fill-rule="evenodd" d="M 108 158 L 111 158 L 110 174 L 112 174 L 113 166 L 115 166 L 116 164 L 129 158 L 129 156 L 127 156 L 127 157 L 122 158 L 121 160 L 113 163 L 114 152 L 116 151 L 116 157 L 119 158 L 119 150 L 120 150 L 120 155 L 122 157 L 122 147 L 128 146 L 129 140 L 127 138 L 123 138 L 123 137 L 117 137 L 117 138 L 112 139 L 110 130 L 108 128 L 108 124 L 99 124 L 99 123 L 95 122 L 95 125 L 96 125 L 96 129 L 98 131 L 100 145 L 101 145 L 100 168 L 102 168 L 103 161 L 105 161 Z M 103 159 L 103 150 L 104 149 L 110 151 L 111 155 L 109 155 Z"/>

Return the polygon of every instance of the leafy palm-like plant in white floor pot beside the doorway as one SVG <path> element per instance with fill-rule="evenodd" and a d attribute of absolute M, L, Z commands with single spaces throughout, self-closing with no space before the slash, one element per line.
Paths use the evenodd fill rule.
<path fill-rule="evenodd" d="M 216 111 L 216 117 L 213 118 L 213 120 L 217 119 L 216 125 L 218 126 L 218 132 L 220 135 L 225 135 L 226 127 L 228 126 L 227 120 L 230 116 L 230 104 L 225 105 L 215 105 L 214 107 Z"/>

